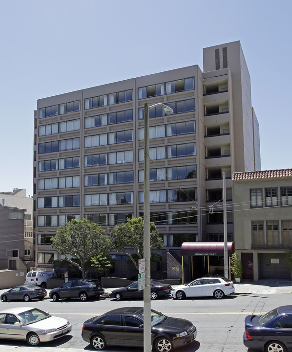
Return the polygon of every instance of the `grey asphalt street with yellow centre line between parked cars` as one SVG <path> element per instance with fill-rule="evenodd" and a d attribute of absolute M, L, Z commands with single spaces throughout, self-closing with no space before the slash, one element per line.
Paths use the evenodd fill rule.
<path fill-rule="evenodd" d="M 244 331 L 244 318 L 246 315 L 257 312 L 261 313 L 264 310 L 274 308 L 274 305 L 289 304 L 290 294 L 292 293 L 292 281 L 285 280 L 261 280 L 256 283 L 240 283 L 235 284 L 235 295 L 233 297 L 224 299 L 224 305 L 218 305 L 218 301 L 214 299 L 206 300 L 157 300 L 152 301 L 151 307 L 156 310 L 161 310 L 167 315 L 177 316 L 191 320 L 198 329 L 196 341 L 192 344 L 175 350 L 176 352 L 255 352 L 255 350 L 247 349 L 242 343 L 242 334 Z M 112 288 L 105 289 L 105 297 Z M 2 293 L 5 290 L 0 290 Z M 237 297 L 236 297 L 237 296 Z M 37 304 L 42 302 L 36 301 Z M 61 302 L 60 302 L 61 303 Z M 88 302 L 89 303 L 89 302 Z M 103 301 L 96 301 L 96 305 L 84 305 L 81 302 L 74 302 L 74 309 L 72 309 L 72 301 L 63 301 L 63 305 L 58 303 L 51 303 L 47 299 L 43 302 L 44 310 L 49 307 L 50 313 L 65 317 L 65 311 L 70 307 L 71 316 L 67 317 L 74 327 L 71 335 L 64 336 L 53 343 L 43 344 L 39 347 L 30 347 L 25 341 L 15 343 L 12 340 L 1 340 L 1 352 L 36 352 L 41 349 L 42 352 L 84 352 L 92 351 L 90 345 L 85 343 L 81 337 L 80 321 L 84 321 L 96 311 L 107 311 L 108 307 L 116 305 L 118 302 L 105 298 Z M 0 309 L 8 303 L 0 302 Z M 24 303 L 11 303 L 13 305 L 23 305 Z M 25 303 L 26 304 L 26 303 Z M 51 304 L 51 306 L 50 306 Z M 85 303 L 86 304 L 86 303 Z M 199 306 L 199 304 L 201 306 Z M 208 309 L 206 308 L 208 304 Z M 34 306 L 33 301 L 28 304 Z M 124 301 L 124 306 L 143 306 L 143 300 L 139 301 Z M 205 305 L 205 307 L 204 307 Z M 78 307 L 78 308 L 77 308 Z M 42 308 L 39 306 L 39 308 Z M 61 311 L 62 308 L 64 312 Z M 70 314 L 70 313 L 69 313 Z M 72 320 L 72 321 L 71 321 Z M 72 325 L 73 325 L 72 324 Z M 74 342 L 76 341 L 76 342 Z M 41 352 L 40 351 L 40 352 Z M 105 350 L 110 352 L 128 352 L 129 348 L 110 348 Z M 141 352 L 142 349 L 131 348 L 131 352 Z M 154 351 L 154 350 L 153 350 Z"/>

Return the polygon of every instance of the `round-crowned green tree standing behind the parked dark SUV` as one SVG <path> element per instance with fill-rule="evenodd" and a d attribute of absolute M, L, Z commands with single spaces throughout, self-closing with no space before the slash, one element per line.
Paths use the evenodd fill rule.
<path fill-rule="evenodd" d="M 109 251 L 109 239 L 105 231 L 95 222 L 71 220 L 60 226 L 56 236 L 52 237 L 52 248 L 63 254 L 66 260 L 76 265 L 86 278 L 86 262 L 99 253 Z M 77 259 L 78 262 L 71 258 Z"/>

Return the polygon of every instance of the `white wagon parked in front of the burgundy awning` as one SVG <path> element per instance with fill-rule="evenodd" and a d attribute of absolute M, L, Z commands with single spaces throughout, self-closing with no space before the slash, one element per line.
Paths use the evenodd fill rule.
<path fill-rule="evenodd" d="M 205 277 L 192 281 L 189 284 L 180 285 L 172 289 L 171 296 L 179 300 L 186 297 L 213 296 L 221 299 L 235 291 L 233 282 L 225 277 Z"/>

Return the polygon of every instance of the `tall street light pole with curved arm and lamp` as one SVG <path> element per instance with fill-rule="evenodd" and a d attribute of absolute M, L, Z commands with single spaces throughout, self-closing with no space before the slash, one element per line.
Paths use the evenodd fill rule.
<path fill-rule="evenodd" d="M 149 176 L 149 110 L 162 105 L 166 114 L 173 110 L 163 103 L 149 106 L 144 104 L 144 259 L 145 259 L 145 288 L 144 288 L 144 352 L 151 352 L 151 303 L 150 303 L 150 176 Z"/>

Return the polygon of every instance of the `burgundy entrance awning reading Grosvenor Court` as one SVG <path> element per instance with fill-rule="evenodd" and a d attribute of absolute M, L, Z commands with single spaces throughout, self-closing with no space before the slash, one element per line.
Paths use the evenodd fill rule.
<path fill-rule="evenodd" d="M 227 242 L 228 255 L 234 252 L 234 242 Z M 188 256 L 224 256 L 224 242 L 184 242 L 182 255 Z"/>

